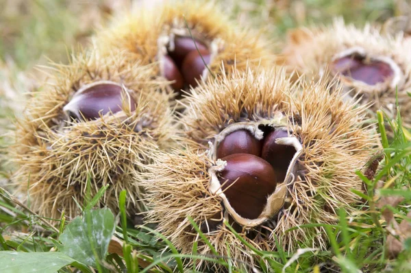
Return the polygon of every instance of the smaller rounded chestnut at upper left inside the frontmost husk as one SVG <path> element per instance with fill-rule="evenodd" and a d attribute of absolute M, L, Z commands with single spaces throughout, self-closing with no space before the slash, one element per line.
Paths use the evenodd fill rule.
<path fill-rule="evenodd" d="M 262 143 L 249 132 L 249 130 L 236 130 L 225 136 L 217 148 L 217 158 L 223 158 L 230 154 L 261 155 Z"/>

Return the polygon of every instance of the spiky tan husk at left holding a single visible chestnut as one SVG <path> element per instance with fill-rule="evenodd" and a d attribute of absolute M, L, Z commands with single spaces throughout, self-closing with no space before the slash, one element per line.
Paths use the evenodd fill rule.
<path fill-rule="evenodd" d="M 91 196 L 110 185 L 100 200 L 114 212 L 118 195 L 126 189 L 127 212 L 145 209 L 143 193 L 132 185 L 135 161 L 149 163 L 152 150 L 173 146 L 175 122 L 169 107 L 166 82 L 152 79 L 151 66 L 129 62 L 126 53 L 101 58 L 99 51 L 73 56 L 68 65 L 51 69 L 53 84 L 32 94 L 25 117 L 16 124 L 16 142 L 10 149 L 19 166 L 14 177 L 18 191 L 27 195 L 40 215 L 59 218 L 79 213 L 73 198 L 82 205 L 90 177 Z M 67 121 L 63 107 L 82 86 L 110 80 L 129 89 L 136 110 L 105 115 L 96 121 Z"/>

